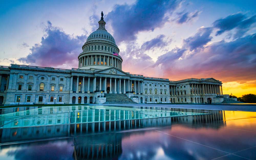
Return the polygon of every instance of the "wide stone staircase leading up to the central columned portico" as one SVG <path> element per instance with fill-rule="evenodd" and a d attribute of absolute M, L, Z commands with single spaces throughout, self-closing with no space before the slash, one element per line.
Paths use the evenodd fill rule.
<path fill-rule="evenodd" d="M 105 93 L 104 95 L 106 96 L 106 102 L 103 104 L 137 104 L 128 98 L 126 94 Z"/>

